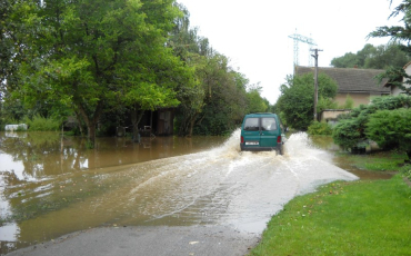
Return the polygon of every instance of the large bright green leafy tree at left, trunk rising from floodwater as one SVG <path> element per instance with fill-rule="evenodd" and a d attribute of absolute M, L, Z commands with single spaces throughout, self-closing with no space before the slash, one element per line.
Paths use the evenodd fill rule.
<path fill-rule="evenodd" d="M 16 3 L 26 10 L 23 45 L 30 49 L 16 92 L 79 112 L 91 141 L 104 106 L 119 97 L 139 109 L 177 104 L 176 82 L 166 78 L 184 67 L 164 47 L 180 14 L 173 0 L 41 2 Z"/>

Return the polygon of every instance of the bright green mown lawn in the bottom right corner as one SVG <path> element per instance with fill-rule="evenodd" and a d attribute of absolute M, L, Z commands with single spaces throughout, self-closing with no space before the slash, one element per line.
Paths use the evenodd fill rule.
<path fill-rule="evenodd" d="M 410 213 L 400 175 L 329 184 L 285 205 L 250 255 L 411 255 Z"/>

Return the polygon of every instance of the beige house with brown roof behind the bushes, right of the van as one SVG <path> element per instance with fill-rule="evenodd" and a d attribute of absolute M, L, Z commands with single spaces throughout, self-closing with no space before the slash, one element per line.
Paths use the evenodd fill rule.
<path fill-rule="evenodd" d="M 295 66 L 294 75 L 314 73 L 314 67 Z M 337 81 L 339 88 L 335 101 L 341 106 L 344 105 L 347 96 L 350 96 L 354 101 L 353 107 L 358 107 L 368 105 L 372 97 L 391 93 L 390 88 L 384 86 L 387 79 L 381 83 L 375 79 L 375 76 L 385 71 L 382 69 L 319 67 L 318 71 Z"/>

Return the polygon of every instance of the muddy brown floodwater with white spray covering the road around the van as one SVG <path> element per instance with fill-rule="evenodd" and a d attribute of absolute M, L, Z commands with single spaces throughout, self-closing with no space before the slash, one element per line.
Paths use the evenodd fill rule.
<path fill-rule="evenodd" d="M 284 156 L 224 137 L 98 138 L 0 132 L 0 253 L 101 226 L 227 225 L 261 233 L 297 195 L 358 177 L 305 134 Z"/>

